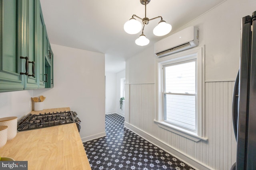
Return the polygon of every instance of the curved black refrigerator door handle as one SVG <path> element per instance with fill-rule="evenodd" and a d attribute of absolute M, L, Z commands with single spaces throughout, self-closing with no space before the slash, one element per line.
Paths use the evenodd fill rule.
<path fill-rule="evenodd" d="M 234 92 L 233 92 L 233 102 L 232 102 L 232 117 L 233 117 L 233 127 L 234 127 L 235 137 L 237 134 L 238 88 L 239 88 L 239 71 L 236 76 Z"/>

